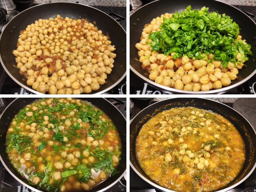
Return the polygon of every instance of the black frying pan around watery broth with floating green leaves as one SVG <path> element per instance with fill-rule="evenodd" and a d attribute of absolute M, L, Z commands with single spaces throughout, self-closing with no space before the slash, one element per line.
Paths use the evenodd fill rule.
<path fill-rule="evenodd" d="M 80 98 L 82 99 L 82 98 Z M 6 138 L 6 132 L 8 130 L 9 124 L 12 120 L 12 118 L 19 112 L 20 109 L 24 108 L 29 103 L 32 103 L 34 101 L 38 100 L 37 98 L 17 98 L 12 101 L 4 110 L 2 113 L 2 116 L 0 117 L 0 160 L 2 164 L 4 165 L 5 169 L 14 177 L 17 181 L 19 181 L 21 184 L 25 185 L 26 187 L 32 189 L 35 192 L 42 192 L 39 189 L 34 188 L 33 186 L 30 186 L 27 181 L 20 176 L 20 173 L 18 173 L 10 163 L 10 161 L 7 158 L 7 153 L 5 152 L 5 138 Z M 110 119 L 112 119 L 113 123 L 116 125 L 116 128 L 119 132 L 121 143 L 122 143 L 122 155 L 121 155 L 121 161 L 117 167 L 117 171 L 119 171 L 118 174 L 114 175 L 113 177 L 108 178 L 106 181 L 102 182 L 97 187 L 90 190 L 91 192 L 95 191 L 106 191 L 108 188 L 116 184 L 125 173 L 126 170 L 126 120 L 122 113 L 114 106 L 112 105 L 108 100 L 104 98 L 84 98 L 82 100 L 91 102 L 93 105 L 101 109 L 103 112 L 105 112 Z M 45 191 L 47 192 L 47 191 Z M 74 191 L 75 192 L 75 191 Z"/>

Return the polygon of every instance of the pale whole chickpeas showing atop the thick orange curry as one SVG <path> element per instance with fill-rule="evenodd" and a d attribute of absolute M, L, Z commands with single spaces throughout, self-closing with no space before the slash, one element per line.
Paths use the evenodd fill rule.
<path fill-rule="evenodd" d="M 201 117 L 202 121 L 200 122 L 201 126 L 209 126 L 207 129 L 208 130 L 212 130 L 211 124 L 212 124 L 212 119 L 206 119 L 204 118 L 204 114 L 200 113 L 199 111 L 192 111 L 191 112 L 192 119 L 195 119 L 196 117 Z M 186 117 L 184 117 L 186 118 Z M 180 116 L 176 116 L 175 120 L 178 122 L 180 121 L 181 117 Z M 188 145 L 191 144 L 187 144 L 184 142 L 183 137 L 187 136 L 188 134 L 198 134 L 198 132 L 200 131 L 200 128 L 196 127 L 196 128 L 192 128 L 190 126 L 183 126 L 180 130 L 178 128 L 172 128 L 172 125 L 174 123 L 173 120 L 169 120 L 167 121 L 160 121 L 159 122 L 161 124 L 160 127 L 160 132 L 154 132 L 154 131 L 148 131 L 149 135 L 157 135 L 157 136 L 163 136 L 164 134 L 168 134 L 167 132 L 174 132 L 179 136 L 179 150 L 174 150 L 171 153 L 165 153 L 165 156 L 163 156 L 164 161 L 169 163 L 172 161 L 172 157 L 176 156 L 177 159 L 179 159 L 182 163 L 188 165 L 189 167 L 195 167 L 197 169 L 204 169 L 204 167 L 208 167 L 209 163 L 212 162 L 210 160 L 211 158 L 211 145 L 205 145 L 204 143 L 201 145 L 201 150 L 200 151 L 191 151 L 188 150 Z M 199 135 L 203 135 L 204 133 L 201 132 L 199 133 Z M 168 134 L 169 135 L 169 134 Z M 205 135 L 205 137 L 207 136 L 207 138 L 209 138 L 209 135 Z M 214 134 L 212 139 L 218 140 L 220 139 L 220 135 L 219 134 Z M 151 143 L 152 145 L 158 145 L 157 141 L 152 141 Z M 177 145 L 177 143 L 174 143 L 174 140 L 172 139 L 168 139 L 167 141 L 164 141 L 162 143 L 163 146 L 168 146 L 168 145 Z M 231 150 L 231 148 L 225 147 L 225 150 L 229 151 Z M 174 169 L 174 172 L 179 174 L 180 173 L 180 169 Z"/>

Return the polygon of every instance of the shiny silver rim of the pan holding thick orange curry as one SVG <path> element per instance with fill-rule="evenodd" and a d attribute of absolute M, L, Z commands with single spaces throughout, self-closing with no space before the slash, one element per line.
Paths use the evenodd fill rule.
<path fill-rule="evenodd" d="M 189 98 L 193 99 L 193 97 L 189 97 Z M 214 102 L 216 102 L 216 103 L 222 104 L 222 105 L 224 105 L 224 106 L 226 106 L 226 107 L 228 107 L 228 108 L 234 110 L 236 113 L 238 113 L 240 116 L 242 116 L 242 117 L 250 124 L 250 126 L 252 127 L 252 129 L 253 129 L 253 131 L 254 131 L 254 133 L 255 133 L 255 136 L 256 136 L 256 131 L 255 131 L 254 127 L 252 126 L 252 124 L 251 124 L 241 113 L 239 113 L 239 112 L 236 111 L 235 109 L 233 109 L 233 108 L 229 107 L 228 105 L 223 104 L 223 103 L 221 103 L 221 102 L 219 102 L 219 101 L 215 101 L 215 100 L 211 100 L 211 99 L 206 99 L 206 98 L 198 98 L 198 97 L 196 97 L 196 98 L 197 98 L 197 99 L 203 99 L 203 100 L 214 101 Z M 172 100 L 172 99 L 177 99 L 177 98 L 168 98 L 168 99 L 165 99 L 165 100 Z M 162 101 L 165 101 L 165 100 L 157 101 L 156 103 L 159 103 L 159 102 L 162 102 Z M 150 107 L 150 106 L 152 106 L 152 105 L 155 105 L 156 103 L 153 103 L 153 104 L 149 105 L 148 107 Z M 146 107 L 146 108 L 148 108 L 148 107 Z M 142 111 L 144 111 L 146 108 L 142 109 L 136 116 L 138 116 L 138 115 L 139 115 Z M 132 121 L 135 119 L 136 116 L 133 117 Z M 132 121 L 130 122 L 130 125 L 131 125 Z M 146 177 L 144 177 L 144 176 L 143 176 L 140 172 L 138 172 L 138 170 L 133 166 L 131 160 L 130 160 L 130 166 L 132 167 L 133 171 L 136 172 L 136 173 L 140 176 L 141 179 L 143 179 L 144 181 L 146 181 L 147 183 L 149 183 L 149 184 L 152 185 L 153 187 L 159 188 L 159 189 L 161 189 L 161 190 L 163 190 L 163 191 L 166 191 L 166 192 L 177 192 L 177 191 L 173 191 L 173 190 L 164 188 L 164 187 L 162 187 L 162 186 L 160 186 L 160 185 L 157 185 L 156 183 L 153 183 L 152 181 L 150 181 L 149 179 L 147 179 Z M 230 189 L 232 189 L 232 188 L 235 188 L 237 185 L 239 185 L 239 184 L 241 184 L 242 182 L 244 182 L 244 181 L 252 174 L 252 172 L 254 171 L 255 167 L 256 167 L 256 163 L 253 165 L 251 171 L 250 171 L 247 175 L 245 175 L 243 179 L 241 179 L 240 181 L 238 181 L 238 182 L 235 183 L 234 185 L 232 185 L 232 186 L 230 186 L 230 187 L 228 187 L 228 188 L 225 188 L 225 189 L 221 189 L 221 190 L 218 190 L 218 191 L 214 191 L 214 192 L 226 192 L 226 191 L 228 191 L 228 190 L 230 190 Z"/>

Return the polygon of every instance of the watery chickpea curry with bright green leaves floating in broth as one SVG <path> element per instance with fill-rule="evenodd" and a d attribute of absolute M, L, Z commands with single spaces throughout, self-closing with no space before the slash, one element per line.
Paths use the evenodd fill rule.
<path fill-rule="evenodd" d="M 45 191 L 86 191 L 118 173 L 115 125 L 88 102 L 42 99 L 21 109 L 6 136 L 14 168 Z"/>

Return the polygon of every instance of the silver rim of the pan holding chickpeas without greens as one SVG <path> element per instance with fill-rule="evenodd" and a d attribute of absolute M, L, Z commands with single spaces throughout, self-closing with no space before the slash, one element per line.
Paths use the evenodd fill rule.
<path fill-rule="evenodd" d="M 77 4 L 77 3 L 72 3 L 72 2 L 51 2 L 51 3 L 47 3 L 47 4 Z M 39 5 L 36 5 L 36 6 L 33 6 L 33 7 L 43 6 L 43 5 L 45 5 L 45 4 L 39 4 Z M 112 18 L 110 15 L 108 15 L 107 13 L 105 13 L 105 12 L 103 12 L 103 11 L 97 9 L 97 8 L 94 8 L 94 7 L 92 7 L 92 6 L 89 6 L 89 5 L 85 5 L 85 4 L 79 4 L 79 5 L 86 6 L 86 7 L 90 7 L 90 8 L 93 8 L 93 9 L 95 9 L 95 10 L 97 10 L 97 11 L 100 11 L 100 12 L 104 13 L 104 14 L 107 15 L 109 18 L 111 18 L 112 20 L 114 20 L 114 21 L 123 29 L 125 35 L 127 36 L 126 31 L 125 31 L 124 28 L 120 25 L 120 23 L 118 23 L 115 19 L 113 19 L 113 18 Z M 33 7 L 30 7 L 30 8 L 28 8 L 28 9 L 31 9 L 31 8 L 33 8 Z M 28 9 L 26 9 L 26 10 L 24 10 L 24 11 L 22 11 L 22 12 L 25 12 L 25 11 L 27 11 Z M 20 13 L 22 13 L 22 12 L 20 12 Z M 20 14 L 20 13 L 19 13 L 19 14 Z M 18 16 L 19 14 L 17 14 L 16 16 Z M 16 17 L 16 16 L 15 16 L 15 17 Z M 9 25 L 9 23 L 10 23 L 11 21 L 12 21 L 12 20 L 10 20 L 10 21 L 6 24 L 6 27 Z M 4 28 L 4 30 L 6 29 L 6 27 Z M 4 30 L 3 30 L 3 31 L 1 32 L 1 34 L 0 34 L 0 41 L 1 41 L 1 37 L 2 37 L 2 34 L 3 34 Z M 12 53 L 10 53 L 10 54 L 12 54 Z M 24 88 L 25 90 L 28 90 L 29 92 L 32 92 L 32 93 L 34 93 L 34 94 L 38 94 L 38 95 L 40 95 L 40 94 L 45 94 L 45 93 L 37 92 L 36 90 L 32 89 L 32 86 L 30 86 L 30 87 L 31 87 L 31 88 L 30 88 L 30 87 L 28 87 L 28 85 L 22 84 L 22 83 L 21 83 L 20 81 L 18 81 L 14 76 L 12 76 L 12 74 L 11 74 L 11 73 L 8 71 L 8 69 L 5 67 L 4 62 L 3 62 L 3 60 L 2 60 L 2 57 L 1 57 L 1 54 L 0 54 L 0 62 L 1 62 L 2 67 L 4 68 L 4 71 L 12 78 L 13 81 L 15 81 L 15 83 L 17 83 L 18 85 L 20 85 L 22 88 Z M 126 64 L 127 64 L 127 63 L 126 63 L 126 61 L 125 61 L 125 68 L 126 68 Z M 114 88 L 117 84 L 119 84 L 119 83 L 124 79 L 125 76 L 126 76 L 126 70 L 125 70 L 124 74 L 123 74 L 114 84 L 110 85 L 109 87 L 107 87 L 106 89 L 104 89 L 104 90 L 102 90 L 102 91 L 92 93 L 91 95 L 93 95 L 93 94 L 103 94 L 103 93 L 109 91 L 110 89 Z M 48 93 L 48 94 L 49 94 L 49 93 Z M 85 94 L 85 93 L 84 93 L 84 94 Z M 49 95 L 50 95 L 50 94 L 49 94 Z M 87 95 L 89 95 L 89 94 L 87 94 Z"/>

